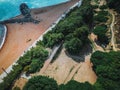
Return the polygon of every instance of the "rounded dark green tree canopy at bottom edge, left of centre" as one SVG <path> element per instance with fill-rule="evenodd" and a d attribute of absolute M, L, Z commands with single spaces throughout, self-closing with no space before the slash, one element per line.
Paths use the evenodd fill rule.
<path fill-rule="evenodd" d="M 23 90 L 58 90 L 58 85 L 54 79 L 35 76 L 29 79 Z"/>

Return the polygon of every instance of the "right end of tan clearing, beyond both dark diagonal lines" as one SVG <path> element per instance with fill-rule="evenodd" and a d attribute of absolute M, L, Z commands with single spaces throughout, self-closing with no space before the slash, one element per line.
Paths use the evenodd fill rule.
<path fill-rule="evenodd" d="M 77 73 L 74 75 L 74 80 L 78 82 L 89 82 L 94 84 L 97 80 L 97 76 L 92 69 L 93 64 L 90 61 L 91 55 L 85 57 L 85 62 L 81 63 L 81 66 Z"/>

